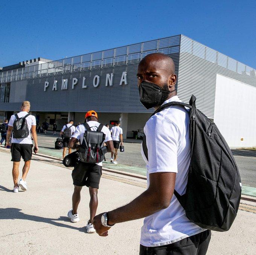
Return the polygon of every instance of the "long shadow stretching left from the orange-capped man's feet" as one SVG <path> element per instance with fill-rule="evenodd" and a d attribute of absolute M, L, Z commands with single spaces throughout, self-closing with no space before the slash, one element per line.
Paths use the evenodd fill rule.
<path fill-rule="evenodd" d="M 32 220 L 34 222 L 43 222 L 52 224 L 54 226 L 62 227 L 62 228 L 70 228 L 70 229 L 76 229 L 81 232 L 87 232 L 85 231 L 85 227 L 77 228 L 74 226 L 66 225 L 64 223 L 56 222 L 56 221 L 69 221 L 68 217 L 60 216 L 58 219 L 52 219 L 52 218 L 44 218 L 40 216 L 25 214 L 21 212 L 21 209 L 18 208 L 0 208 L 0 220 Z"/>

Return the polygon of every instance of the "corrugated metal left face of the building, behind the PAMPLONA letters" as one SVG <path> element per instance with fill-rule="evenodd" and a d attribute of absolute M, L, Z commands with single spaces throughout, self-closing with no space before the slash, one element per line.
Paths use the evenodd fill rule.
<path fill-rule="evenodd" d="M 92 108 L 99 112 L 148 112 L 139 100 L 136 77 L 139 61 L 149 53 L 162 52 L 174 59 L 178 73 L 179 43 L 178 35 L 66 58 L 40 64 L 33 72 L 30 72 L 31 68 L 20 68 L 16 71 L 20 74 L 12 79 L 25 77 L 27 80 L 26 100 L 30 101 L 32 111 L 84 112 Z M 127 85 L 119 85 L 123 71 L 127 72 Z M 114 74 L 111 87 L 105 86 L 107 73 Z M 93 87 L 95 75 L 101 78 L 97 88 Z M 72 90 L 73 77 L 78 83 Z M 86 77 L 87 88 L 82 88 L 83 77 Z M 61 90 L 62 79 L 69 81 L 67 90 Z M 57 91 L 52 91 L 54 80 L 58 80 Z M 47 91 L 44 91 L 45 81 L 49 82 Z M 5 110 L 14 110 L 11 103 Z"/>

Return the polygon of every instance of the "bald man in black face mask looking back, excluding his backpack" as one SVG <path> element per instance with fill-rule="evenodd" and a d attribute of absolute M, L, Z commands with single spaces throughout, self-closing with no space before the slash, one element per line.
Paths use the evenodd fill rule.
<path fill-rule="evenodd" d="M 175 83 L 173 60 L 162 53 L 145 56 L 138 66 L 140 102 L 146 109 L 169 102 L 181 102 Z M 141 228 L 140 255 L 206 254 L 210 231 L 187 219 L 173 196 L 186 191 L 190 164 L 189 112 L 183 106 L 170 106 L 153 115 L 144 127 L 148 160 L 148 188 L 125 206 L 94 217 L 96 232 L 107 236 L 116 223 L 146 217 Z M 117 228 L 117 226 L 116 226 Z"/>

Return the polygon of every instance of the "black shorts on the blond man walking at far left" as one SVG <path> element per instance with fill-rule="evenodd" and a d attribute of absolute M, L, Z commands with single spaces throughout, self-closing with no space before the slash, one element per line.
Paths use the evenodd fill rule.
<path fill-rule="evenodd" d="M 11 153 L 12 153 L 11 161 L 20 162 L 21 157 L 23 158 L 24 161 L 31 160 L 32 148 L 33 148 L 33 144 L 12 143 L 12 145 L 11 145 Z"/>

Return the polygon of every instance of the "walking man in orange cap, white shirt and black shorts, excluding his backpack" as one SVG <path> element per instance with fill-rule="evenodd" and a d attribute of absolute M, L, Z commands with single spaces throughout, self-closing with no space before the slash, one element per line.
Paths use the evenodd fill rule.
<path fill-rule="evenodd" d="M 97 131 L 100 123 L 98 122 L 98 114 L 95 111 L 88 111 L 85 114 L 85 121 L 89 125 L 91 131 Z M 69 146 L 72 149 L 77 149 L 79 145 L 77 144 L 78 140 L 80 140 L 81 144 L 84 140 L 84 134 L 86 131 L 86 127 L 84 124 L 76 127 L 75 133 L 72 135 Z M 101 132 L 105 134 L 105 142 L 107 144 L 107 151 L 113 152 L 113 141 L 111 139 L 111 134 L 109 129 L 106 126 L 103 126 Z M 72 171 L 73 184 L 75 186 L 74 193 L 72 196 L 72 209 L 68 212 L 67 216 L 70 218 L 71 222 L 78 222 L 78 205 L 80 202 L 80 192 L 83 186 L 87 186 L 89 188 L 90 193 L 90 219 L 87 222 L 86 229 L 87 233 L 94 233 L 95 229 L 91 224 L 94 216 L 96 215 L 96 210 L 98 207 L 98 188 L 99 182 L 102 175 L 102 162 L 91 164 L 84 163 L 79 161 Z"/>

